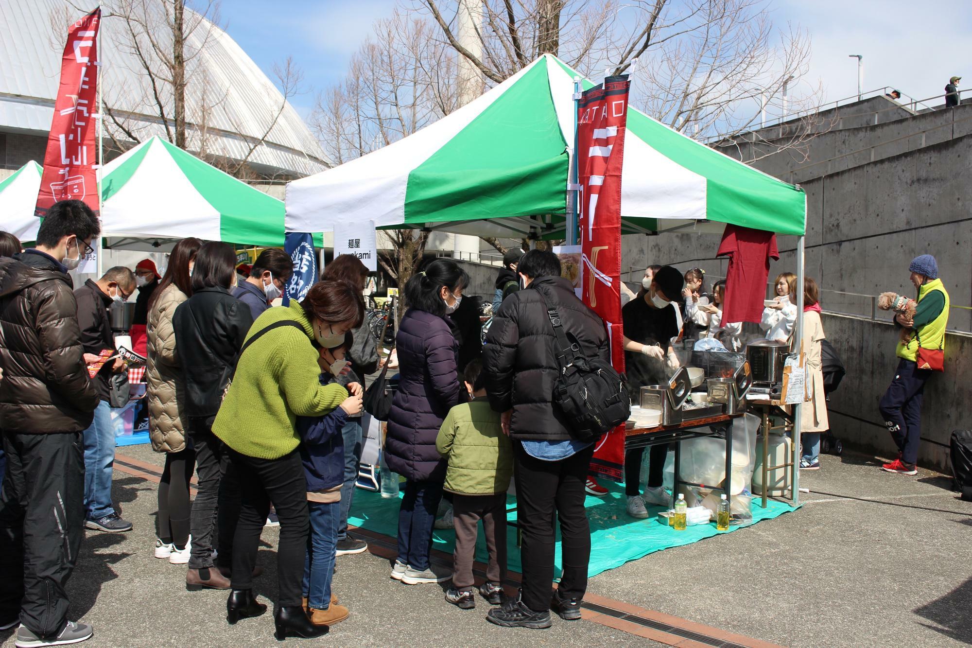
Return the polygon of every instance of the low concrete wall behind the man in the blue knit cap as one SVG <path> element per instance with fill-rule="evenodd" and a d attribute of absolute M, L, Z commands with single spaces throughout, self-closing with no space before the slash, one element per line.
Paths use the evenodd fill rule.
<path fill-rule="evenodd" d="M 845 444 L 862 450 L 895 455 L 878 402 L 884 395 L 898 358 L 893 326 L 857 317 L 824 312 L 823 330 L 844 365 L 847 376 L 827 404 L 831 431 Z M 945 341 L 945 373 L 925 385 L 921 408 L 919 462 L 948 470 L 952 431 L 972 427 L 972 336 L 949 335 Z"/>

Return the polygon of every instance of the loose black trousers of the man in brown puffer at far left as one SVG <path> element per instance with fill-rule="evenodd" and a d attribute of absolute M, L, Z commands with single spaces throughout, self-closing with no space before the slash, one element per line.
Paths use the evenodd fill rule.
<path fill-rule="evenodd" d="M 17 618 L 41 637 L 67 624 L 64 586 L 81 549 L 85 448 L 80 432 L 3 433 L 0 622 Z"/>

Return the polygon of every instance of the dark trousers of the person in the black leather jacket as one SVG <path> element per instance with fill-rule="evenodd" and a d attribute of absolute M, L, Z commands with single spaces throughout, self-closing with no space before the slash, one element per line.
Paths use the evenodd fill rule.
<path fill-rule="evenodd" d="M 240 484 L 236 467 L 229 461 L 226 444 L 213 434 L 205 422 L 193 418 L 190 425 L 198 486 L 190 518 L 192 552 L 189 568 L 214 566 L 214 549 L 219 550 L 215 564 L 231 567 L 233 536 L 240 511 Z"/>

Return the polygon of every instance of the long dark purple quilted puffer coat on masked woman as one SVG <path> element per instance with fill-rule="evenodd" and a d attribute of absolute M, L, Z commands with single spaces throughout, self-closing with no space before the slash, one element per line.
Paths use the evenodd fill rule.
<path fill-rule="evenodd" d="M 417 308 L 401 318 L 396 341 L 401 370 L 385 440 L 388 467 L 415 482 L 441 482 L 446 461 L 435 438 L 459 403 L 459 345 L 446 318 Z"/>

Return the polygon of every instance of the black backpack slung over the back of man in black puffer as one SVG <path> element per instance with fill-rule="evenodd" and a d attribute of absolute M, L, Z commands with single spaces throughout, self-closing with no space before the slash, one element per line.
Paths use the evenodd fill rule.
<path fill-rule="evenodd" d="M 573 422 L 574 439 L 597 441 L 631 415 L 628 381 L 609 362 L 585 357 L 580 342 L 564 332 L 557 310 L 550 307 L 542 292 L 537 292 L 553 327 L 554 354 L 560 366 L 560 375 L 553 385 L 553 404 Z"/>

